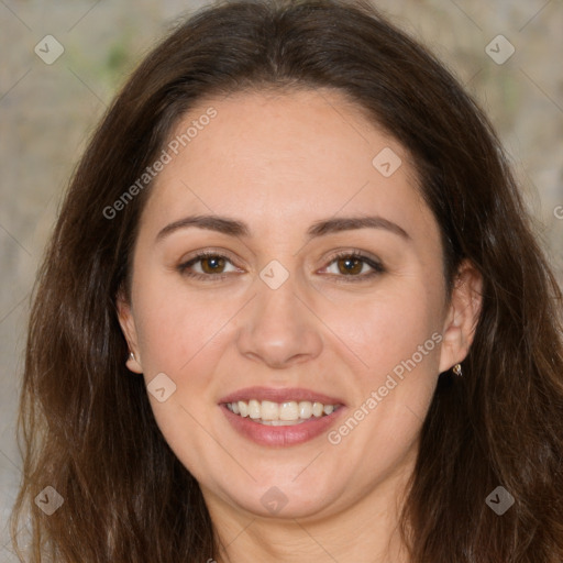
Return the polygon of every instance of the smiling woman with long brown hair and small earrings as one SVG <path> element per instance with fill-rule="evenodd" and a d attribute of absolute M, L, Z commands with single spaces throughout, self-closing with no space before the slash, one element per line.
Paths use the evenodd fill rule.
<path fill-rule="evenodd" d="M 423 47 L 366 4 L 208 9 L 73 179 L 14 529 L 30 561 L 561 562 L 560 311 Z"/>

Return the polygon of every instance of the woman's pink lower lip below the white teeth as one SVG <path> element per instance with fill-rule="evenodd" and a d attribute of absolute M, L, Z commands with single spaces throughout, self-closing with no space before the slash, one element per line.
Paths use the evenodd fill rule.
<path fill-rule="evenodd" d="M 306 422 L 299 424 L 272 427 L 254 422 L 249 417 L 235 415 L 231 412 L 225 405 L 221 405 L 221 408 L 227 420 L 229 420 L 240 434 L 261 445 L 282 446 L 297 445 L 313 440 L 325 432 L 340 417 L 341 412 L 345 410 L 344 407 L 340 407 L 330 415 L 319 418 L 311 417 Z"/>

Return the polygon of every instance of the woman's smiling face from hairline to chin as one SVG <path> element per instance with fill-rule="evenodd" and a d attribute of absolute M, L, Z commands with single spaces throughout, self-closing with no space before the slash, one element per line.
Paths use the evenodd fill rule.
<path fill-rule="evenodd" d="M 254 515 L 391 489 L 468 345 L 408 155 L 329 90 L 232 95 L 189 126 L 120 308 L 166 441 L 208 504 Z"/>

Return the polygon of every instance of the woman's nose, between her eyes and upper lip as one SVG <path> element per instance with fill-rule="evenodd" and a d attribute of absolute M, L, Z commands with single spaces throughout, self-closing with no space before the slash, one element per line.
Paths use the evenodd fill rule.
<path fill-rule="evenodd" d="M 277 289 L 258 280 L 258 294 L 241 322 L 240 353 L 278 369 L 316 358 L 323 342 L 321 322 L 311 309 L 297 295 L 291 276 Z"/>

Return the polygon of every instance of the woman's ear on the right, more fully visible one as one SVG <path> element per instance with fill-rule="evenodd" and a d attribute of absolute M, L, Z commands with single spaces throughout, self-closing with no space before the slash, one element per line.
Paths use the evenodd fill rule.
<path fill-rule="evenodd" d="M 455 276 L 442 330 L 440 373 L 446 372 L 467 356 L 479 318 L 482 290 L 483 276 L 468 260 L 463 261 Z"/>

